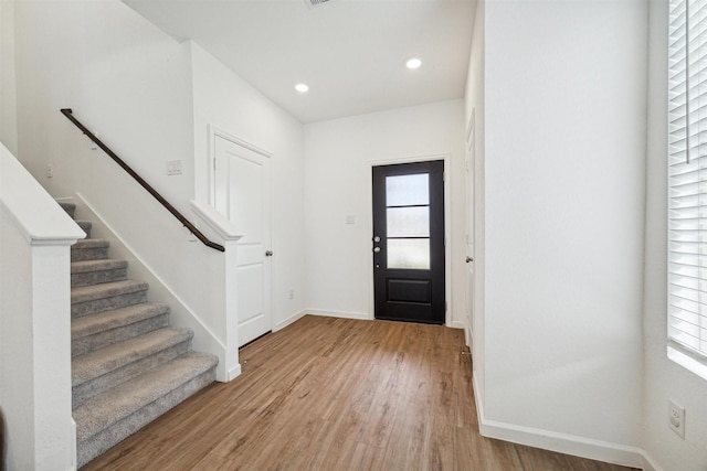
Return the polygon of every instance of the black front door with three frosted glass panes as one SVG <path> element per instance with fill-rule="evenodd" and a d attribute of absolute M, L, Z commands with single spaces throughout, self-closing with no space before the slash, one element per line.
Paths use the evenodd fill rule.
<path fill-rule="evenodd" d="M 373 167 L 376 319 L 444 323 L 444 161 Z"/>

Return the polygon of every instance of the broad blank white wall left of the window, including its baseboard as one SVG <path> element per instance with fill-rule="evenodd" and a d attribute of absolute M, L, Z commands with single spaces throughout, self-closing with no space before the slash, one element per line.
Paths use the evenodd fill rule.
<path fill-rule="evenodd" d="M 482 430 L 635 463 L 647 4 L 485 10 Z"/>

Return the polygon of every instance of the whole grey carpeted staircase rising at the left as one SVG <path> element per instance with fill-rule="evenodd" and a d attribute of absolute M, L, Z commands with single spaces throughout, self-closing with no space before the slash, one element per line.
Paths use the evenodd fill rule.
<path fill-rule="evenodd" d="M 75 205 L 61 203 L 73 218 Z M 91 223 L 76 222 L 91 237 Z M 169 327 L 169 306 L 127 279 L 108 242 L 71 249 L 73 416 L 82 467 L 215 379 L 218 358 L 193 352 L 189 329 Z"/>

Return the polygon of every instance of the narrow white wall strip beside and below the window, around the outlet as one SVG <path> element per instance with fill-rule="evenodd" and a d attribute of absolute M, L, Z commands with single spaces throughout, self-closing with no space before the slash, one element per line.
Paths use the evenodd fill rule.
<path fill-rule="evenodd" d="M 666 471 L 707 469 L 707 381 L 666 355 L 667 1 L 651 1 L 644 289 L 644 448 Z M 667 427 L 667 402 L 686 408 L 685 440 Z"/>

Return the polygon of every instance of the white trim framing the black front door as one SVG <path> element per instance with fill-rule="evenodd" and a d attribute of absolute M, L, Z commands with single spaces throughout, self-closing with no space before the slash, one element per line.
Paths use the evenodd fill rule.
<path fill-rule="evenodd" d="M 444 325 L 452 325 L 452 220 L 451 220 L 451 179 L 449 172 L 451 170 L 452 159 L 449 153 L 437 153 L 430 156 L 416 156 L 416 157 L 401 157 L 389 158 L 380 160 L 369 160 L 366 165 L 366 213 L 365 229 L 367 234 L 367 247 L 371 247 L 371 237 L 373 236 L 373 182 L 372 171 L 373 167 L 380 165 L 394 165 L 397 163 L 416 163 L 429 162 L 432 160 L 444 161 L 444 300 L 446 302 L 446 310 L 444 312 Z M 376 319 L 376 299 L 374 299 L 374 286 L 373 286 L 373 257 L 368 256 L 366 266 L 368 269 L 368 319 Z"/>

